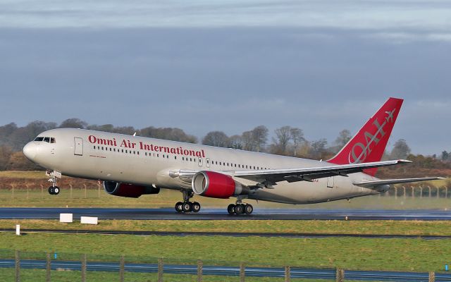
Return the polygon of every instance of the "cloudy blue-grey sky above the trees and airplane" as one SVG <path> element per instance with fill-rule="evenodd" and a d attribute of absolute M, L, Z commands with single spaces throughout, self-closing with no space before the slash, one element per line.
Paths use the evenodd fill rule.
<path fill-rule="evenodd" d="M 0 125 L 352 133 L 451 150 L 450 1 L 0 1 Z"/>

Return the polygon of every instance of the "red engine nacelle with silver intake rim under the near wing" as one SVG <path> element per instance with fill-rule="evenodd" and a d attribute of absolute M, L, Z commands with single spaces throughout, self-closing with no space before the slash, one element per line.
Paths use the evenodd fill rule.
<path fill-rule="evenodd" d="M 204 197 L 228 199 L 232 196 L 249 194 L 247 186 L 230 176 L 214 171 L 199 171 L 194 174 L 191 185 L 194 194 Z"/>

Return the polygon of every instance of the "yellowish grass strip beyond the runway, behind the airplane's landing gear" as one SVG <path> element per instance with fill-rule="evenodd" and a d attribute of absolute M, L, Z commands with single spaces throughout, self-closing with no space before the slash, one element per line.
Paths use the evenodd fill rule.
<path fill-rule="evenodd" d="M 451 190 L 450 190 L 451 193 Z M 59 195 L 49 195 L 47 188 L 14 189 L 0 188 L 0 207 L 116 207 L 116 208 L 171 208 L 182 200 L 175 190 L 161 190 L 158 195 L 143 195 L 140 198 L 116 197 L 101 189 L 62 188 Z M 221 208 L 235 202 L 228 200 L 194 197 L 202 208 Z M 320 204 L 278 204 L 247 200 L 254 209 L 451 209 L 451 199 L 443 197 L 393 197 L 372 195 Z M 202 210 L 201 210 L 202 212 Z"/>

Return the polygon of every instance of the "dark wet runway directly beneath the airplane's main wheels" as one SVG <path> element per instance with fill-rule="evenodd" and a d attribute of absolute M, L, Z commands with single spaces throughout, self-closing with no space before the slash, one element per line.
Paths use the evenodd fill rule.
<path fill-rule="evenodd" d="M 59 219 L 59 214 L 97 216 L 99 219 L 143 220 L 451 220 L 445 210 L 370 210 L 370 209 L 254 209 L 254 213 L 231 216 L 226 209 L 202 209 L 199 213 L 178 214 L 174 209 L 112 208 L 0 208 L 0 219 Z"/>

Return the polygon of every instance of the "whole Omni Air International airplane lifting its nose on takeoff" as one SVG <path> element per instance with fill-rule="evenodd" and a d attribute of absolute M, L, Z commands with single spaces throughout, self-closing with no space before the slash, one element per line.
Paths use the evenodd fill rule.
<path fill-rule="evenodd" d="M 381 109 L 327 161 L 285 157 L 240 149 L 211 147 L 135 135 L 77 128 L 39 134 L 23 153 L 43 168 L 58 195 L 57 178 L 72 176 L 103 181 L 104 190 L 119 197 L 180 190 L 180 213 L 199 212 L 196 196 L 228 199 L 228 213 L 252 214 L 248 200 L 311 204 L 386 192 L 390 185 L 442 179 L 438 177 L 381 180 L 377 168 L 407 164 L 381 161 L 403 99 L 389 98 Z"/>

